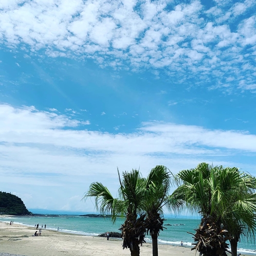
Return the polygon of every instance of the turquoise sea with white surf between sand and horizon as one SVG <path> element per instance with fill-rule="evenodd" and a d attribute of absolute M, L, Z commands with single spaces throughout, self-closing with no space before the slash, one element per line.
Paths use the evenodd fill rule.
<path fill-rule="evenodd" d="M 59 227 L 59 232 L 69 232 L 81 235 L 98 235 L 104 232 L 120 232 L 119 227 L 124 220 L 119 219 L 113 225 L 109 218 L 90 218 L 82 216 L 15 216 L 1 217 L 0 221 L 9 223 L 14 221 L 16 224 L 23 224 L 34 227 L 39 224 L 39 227 L 46 224 L 46 229 L 56 230 Z M 198 227 L 200 220 L 193 218 L 166 218 L 164 225 L 171 224 L 172 226 L 164 226 L 158 238 L 159 243 L 180 246 L 183 241 L 184 246 L 192 247 L 193 237 L 187 232 L 194 233 L 194 229 Z M 147 243 L 151 242 L 150 237 L 146 239 Z M 240 253 L 256 255 L 256 245 L 253 241 L 241 241 L 238 245 Z"/>

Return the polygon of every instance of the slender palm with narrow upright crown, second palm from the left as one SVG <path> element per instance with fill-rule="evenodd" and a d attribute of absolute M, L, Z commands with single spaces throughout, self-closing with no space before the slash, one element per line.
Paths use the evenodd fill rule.
<path fill-rule="evenodd" d="M 158 256 L 157 237 L 163 230 L 163 207 L 168 203 L 170 171 L 164 166 L 156 166 L 145 180 L 144 211 L 147 213 L 145 224 L 152 238 L 153 256 Z"/>

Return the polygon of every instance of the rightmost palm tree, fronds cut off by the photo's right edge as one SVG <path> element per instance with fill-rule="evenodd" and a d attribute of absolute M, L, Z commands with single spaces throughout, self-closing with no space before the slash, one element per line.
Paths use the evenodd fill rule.
<path fill-rule="evenodd" d="M 227 208 L 222 214 L 222 222 L 228 228 L 232 256 L 237 255 L 237 243 L 241 235 L 247 240 L 255 238 L 256 232 L 256 179 L 237 168 L 229 169 L 232 177 Z"/>

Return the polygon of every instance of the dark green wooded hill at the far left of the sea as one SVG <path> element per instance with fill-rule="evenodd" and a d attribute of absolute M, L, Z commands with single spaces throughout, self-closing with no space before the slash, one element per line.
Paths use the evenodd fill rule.
<path fill-rule="evenodd" d="M 28 215 L 31 212 L 20 197 L 0 191 L 0 214 Z"/>

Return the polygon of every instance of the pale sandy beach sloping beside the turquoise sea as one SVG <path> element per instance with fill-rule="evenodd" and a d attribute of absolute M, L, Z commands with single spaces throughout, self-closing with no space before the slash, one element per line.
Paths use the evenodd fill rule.
<path fill-rule="evenodd" d="M 122 249 L 122 241 L 105 237 L 69 234 L 51 230 L 42 231 L 42 236 L 33 236 L 35 228 L 0 222 L 0 252 L 26 256 L 102 256 L 131 255 L 129 249 Z M 143 244 L 140 255 L 152 255 L 152 245 Z M 192 256 L 190 248 L 159 245 L 160 256 Z"/>

